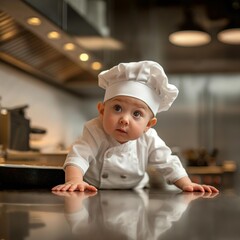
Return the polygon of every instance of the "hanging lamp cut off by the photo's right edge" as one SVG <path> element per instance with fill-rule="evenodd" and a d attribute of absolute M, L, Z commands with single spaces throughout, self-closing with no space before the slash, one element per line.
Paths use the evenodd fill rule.
<path fill-rule="evenodd" d="M 217 35 L 220 42 L 226 44 L 240 44 L 240 1 L 232 2 L 230 21 Z"/>

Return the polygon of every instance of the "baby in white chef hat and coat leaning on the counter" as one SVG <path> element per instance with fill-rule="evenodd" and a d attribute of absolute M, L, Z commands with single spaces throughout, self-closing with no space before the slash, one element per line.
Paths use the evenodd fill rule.
<path fill-rule="evenodd" d="M 137 189 L 148 186 L 147 167 L 183 191 L 218 192 L 193 183 L 180 159 L 152 127 L 178 95 L 153 61 L 120 63 L 99 74 L 105 89 L 99 116 L 87 122 L 64 163 L 65 183 L 54 191 Z"/>

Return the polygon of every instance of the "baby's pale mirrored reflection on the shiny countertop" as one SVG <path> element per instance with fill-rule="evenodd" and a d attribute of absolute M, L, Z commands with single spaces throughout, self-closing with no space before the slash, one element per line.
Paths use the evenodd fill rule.
<path fill-rule="evenodd" d="M 202 194 L 147 191 L 56 192 L 65 197 L 66 219 L 80 239 L 158 239 Z M 96 194 L 96 195 L 95 195 Z M 92 197 L 95 195 L 95 197 Z M 96 236 L 97 233 L 97 236 Z"/>

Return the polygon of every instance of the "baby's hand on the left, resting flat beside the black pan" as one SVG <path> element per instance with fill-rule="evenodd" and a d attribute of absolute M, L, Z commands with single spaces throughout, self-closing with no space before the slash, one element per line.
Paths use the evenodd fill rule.
<path fill-rule="evenodd" d="M 84 192 L 86 190 L 97 192 L 97 188 L 95 188 L 94 186 L 89 185 L 88 183 L 86 183 L 84 181 L 78 181 L 78 180 L 70 180 L 64 184 L 60 184 L 60 185 L 57 185 L 52 188 L 52 191 Z"/>

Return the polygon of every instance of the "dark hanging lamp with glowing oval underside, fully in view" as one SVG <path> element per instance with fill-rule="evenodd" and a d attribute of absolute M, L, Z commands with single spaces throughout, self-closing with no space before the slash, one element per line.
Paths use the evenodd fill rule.
<path fill-rule="evenodd" d="M 208 44 L 211 36 L 193 19 L 190 8 L 184 10 L 184 22 L 169 35 L 169 41 L 177 46 L 196 47 Z"/>

